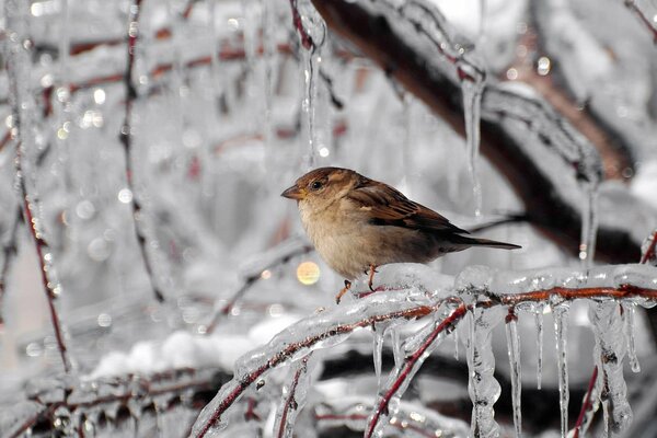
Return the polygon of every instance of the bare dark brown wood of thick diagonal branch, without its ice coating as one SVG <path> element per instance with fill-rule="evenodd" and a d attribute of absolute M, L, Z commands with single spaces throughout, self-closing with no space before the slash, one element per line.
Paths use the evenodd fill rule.
<path fill-rule="evenodd" d="M 376 3 L 376 2 L 374 2 Z M 445 119 L 457 132 L 464 135 L 461 107 L 460 84 L 454 78 L 441 74 L 433 68 L 427 54 L 397 35 L 384 14 L 374 15 L 365 4 L 348 0 L 313 0 L 316 10 L 335 33 L 357 46 L 387 71 L 395 81 L 427 104 L 438 116 Z M 438 53 L 437 53 L 438 55 Z M 446 59 L 449 61 L 449 59 Z M 456 67 L 454 67 L 456 68 Z M 485 105 L 484 91 L 482 105 Z M 542 111 L 539 108 L 538 111 Z M 481 151 L 506 176 L 516 194 L 523 201 L 527 215 L 532 223 L 551 240 L 577 254 L 581 232 L 581 215 L 577 206 L 572 205 L 557 185 L 554 175 L 546 174 L 534 157 L 522 147 L 519 138 L 514 137 L 500 120 L 505 114 L 497 115 L 498 120 L 482 120 Z M 528 127 L 531 120 L 527 120 Z M 546 148 L 550 145 L 544 145 Z M 577 163 L 574 163 L 577 164 Z M 575 176 L 575 175 L 574 175 Z M 642 212 L 647 207 L 632 198 L 631 211 Z M 646 212 L 645 215 L 647 215 Z M 597 256 L 613 263 L 627 263 L 638 258 L 638 242 L 633 230 L 607 227 L 601 221 L 598 232 Z"/>

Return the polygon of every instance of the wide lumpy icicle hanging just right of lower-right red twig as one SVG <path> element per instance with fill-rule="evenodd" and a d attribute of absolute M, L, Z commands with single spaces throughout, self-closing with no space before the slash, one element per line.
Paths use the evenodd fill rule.
<path fill-rule="evenodd" d="M 600 399 L 604 410 L 604 427 L 619 434 L 632 423 L 627 387 L 623 378 L 626 342 L 619 304 L 615 301 L 591 303 L 589 319 L 596 333 L 593 355 L 598 364 L 598 381 L 602 384 Z"/>

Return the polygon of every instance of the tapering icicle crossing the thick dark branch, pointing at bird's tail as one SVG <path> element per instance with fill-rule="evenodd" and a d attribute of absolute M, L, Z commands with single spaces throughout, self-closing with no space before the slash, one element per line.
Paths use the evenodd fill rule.
<path fill-rule="evenodd" d="M 474 76 L 474 80 L 465 78 L 461 81 L 463 93 L 463 114 L 465 117 L 465 141 L 468 143 L 468 166 L 472 178 L 472 193 L 474 195 L 474 214 L 482 215 L 482 185 L 477 174 L 480 150 L 480 114 L 484 80 Z"/>

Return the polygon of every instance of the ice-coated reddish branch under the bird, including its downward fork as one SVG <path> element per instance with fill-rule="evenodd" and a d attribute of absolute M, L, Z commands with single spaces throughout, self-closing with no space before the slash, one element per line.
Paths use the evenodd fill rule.
<path fill-rule="evenodd" d="M 429 350 L 440 334 L 451 328 L 469 310 L 469 306 L 462 303 L 441 316 L 438 311 L 445 303 L 460 302 L 461 299 L 468 302 L 474 299 L 477 312 L 483 315 L 489 314 L 493 308 L 498 307 L 519 309 L 521 304 L 543 302 L 558 307 L 578 299 L 614 299 L 639 303 L 657 301 L 655 268 L 641 265 L 621 265 L 611 269 L 553 269 L 550 274 L 545 272 L 497 273 L 492 269 L 482 270 L 482 267 L 479 267 L 461 273 L 456 279 L 454 288 L 442 290 L 438 296 L 427 297 L 419 291 L 420 289 L 397 289 L 373 293 L 350 306 L 341 306 L 307 318 L 276 335 L 266 346 L 243 356 L 235 365 L 233 380 L 222 387 L 197 418 L 193 436 L 200 438 L 210 430 L 220 430 L 224 427 L 223 414 L 246 389 L 269 370 L 298 360 L 300 356 L 307 355 L 314 348 L 334 346 L 360 327 L 436 315 L 434 320 L 436 326 L 430 330 L 425 326 L 428 333 L 420 331 L 419 336 L 424 336 L 422 341 L 416 341 L 417 344 L 415 342 L 407 344 L 417 347 L 412 348 L 403 365 L 391 374 L 388 389 L 379 397 L 368 426 L 368 434 L 371 436 L 390 401 L 403 394 L 408 379 L 422 364 L 422 356 Z M 449 298 L 450 295 L 452 298 Z M 443 298 L 440 299 L 439 296 Z M 427 334 L 422 335 L 422 333 Z M 485 334 L 483 338 L 486 338 Z M 485 404 L 492 406 L 495 399 L 496 396 L 494 400 L 486 399 Z"/>

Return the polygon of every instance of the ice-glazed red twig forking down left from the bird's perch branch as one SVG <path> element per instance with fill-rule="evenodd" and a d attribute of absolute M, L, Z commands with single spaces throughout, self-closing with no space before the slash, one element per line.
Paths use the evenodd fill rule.
<path fill-rule="evenodd" d="M 417 348 L 415 353 L 413 353 L 413 355 L 407 356 L 404 359 L 402 371 L 397 376 L 394 383 L 390 387 L 388 392 L 385 392 L 385 394 L 381 399 L 381 402 L 374 410 L 372 418 L 369 422 L 369 425 L 365 433 L 366 438 L 371 438 L 377 427 L 377 424 L 379 423 L 379 419 L 382 415 L 384 415 L 384 413 L 388 412 L 388 405 L 390 404 L 390 401 L 397 393 L 397 391 L 400 390 L 402 384 L 404 384 L 406 379 L 411 377 L 413 368 L 415 367 L 419 358 L 425 354 L 427 348 L 429 348 L 429 346 L 436 341 L 440 333 L 442 333 L 448 327 L 453 326 L 465 315 L 466 312 L 468 307 L 465 304 L 460 304 L 458 308 L 452 310 L 452 312 L 445 320 L 442 320 L 442 322 L 438 324 L 438 326 L 425 338 L 419 348 Z"/>

